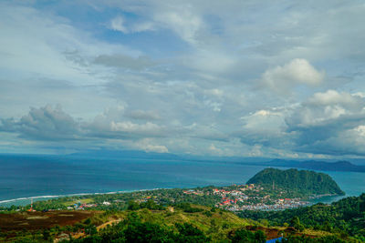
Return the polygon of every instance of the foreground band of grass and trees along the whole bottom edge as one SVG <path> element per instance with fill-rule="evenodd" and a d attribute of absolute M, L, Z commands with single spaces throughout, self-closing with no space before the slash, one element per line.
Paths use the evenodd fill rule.
<path fill-rule="evenodd" d="M 59 216 L 66 212 L 60 211 Z M 287 216 L 291 211 L 283 212 Z M 40 213 L 5 215 L 15 217 L 16 214 L 26 214 L 27 222 L 32 222 Z M 47 216 L 49 212 L 44 214 Z M 51 222 L 47 221 L 50 217 L 44 218 L 46 225 Z M 24 230 L 1 229 L 0 242 L 51 242 L 55 239 L 57 242 L 266 242 L 266 239 L 278 237 L 284 237 L 283 242 L 358 242 L 363 239 L 326 228 L 307 228 L 296 217 L 291 218 L 289 224 L 277 221 L 274 226 L 271 218 L 240 218 L 223 209 L 189 203 L 163 207 L 153 200 L 130 201 L 126 210 L 95 211 L 76 223 L 28 229 L 24 224 Z"/>

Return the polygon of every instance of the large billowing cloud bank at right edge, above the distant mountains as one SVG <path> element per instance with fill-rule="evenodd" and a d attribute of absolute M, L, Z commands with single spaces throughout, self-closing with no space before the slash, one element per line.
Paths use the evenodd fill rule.
<path fill-rule="evenodd" d="M 337 156 L 365 155 L 364 106 L 364 98 L 335 90 L 309 97 L 286 117 L 287 131 L 296 143 L 293 149 Z"/>

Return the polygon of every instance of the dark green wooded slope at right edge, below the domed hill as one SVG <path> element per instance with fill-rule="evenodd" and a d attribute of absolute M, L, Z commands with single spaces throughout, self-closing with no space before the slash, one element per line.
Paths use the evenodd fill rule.
<path fill-rule="evenodd" d="M 238 215 L 254 220 L 266 219 L 274 226 L 288 224 L 299 230 L 324 230 L 365 241 L 365 194 L 346 197 L 331 205 L 319 203 L 284 211 L 243 211 Z"/>

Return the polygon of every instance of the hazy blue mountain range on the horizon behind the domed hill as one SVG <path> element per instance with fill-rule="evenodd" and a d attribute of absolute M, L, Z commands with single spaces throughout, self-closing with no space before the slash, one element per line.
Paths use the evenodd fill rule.
<path fill-rule="evenodd" d="M 351 172 L 365 172 L 365 166 L 357 166 L 349 161 L 324 162 L 316 160 L 308 161 L 293 161 L 283 159 L 273 159 L 269 162 L 263 163 L 263 166 L 270 167 L 297 167 L 323 171 L 351 171 Z"/>

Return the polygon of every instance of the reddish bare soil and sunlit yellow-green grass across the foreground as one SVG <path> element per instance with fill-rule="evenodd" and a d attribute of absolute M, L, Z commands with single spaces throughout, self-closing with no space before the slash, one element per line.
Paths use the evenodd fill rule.
<path fill-rule="evenodd" d="M 88 201 L 90 202 L 90 201 Z M 73 202 L 70 202 L 73 203 Z M 85 202 L 86 203 L 86 202 Z M 192 208 L 201 208 L 199 212 L 185 212 L 181 208 L 168 207 L 164 210 L 151 210 L 147 208 L 133 211 L 141 218 L 142 222 L 151 222 L 162 225 L 167 228 L 175 228 L 176 223 L 189 223 L 194 227 L 201 229 L 206 236 L 211 237 L 214 241 L 227 239 L 228 236 L 240 228 L 251 231 L 262 230 L 266 237 L 277 238 L 284 234 L 308 236 L 310 238 L 322 237 L 329 235 L 328 232 L 309 230 L 297 232 L 294 228 L 269 227 L 265 223 L 257 222 L 252 219 L 238 218 L 234 213 L 221 209 L 212 209 L 204 206 L 192 205 Z M 118 223 L 129 217 L 130 210 L 125 211 L 49 211 L 49 212 L 16 212 L 9 214 L 0 214 L 0 228 L 7 235 L 2 238 L 4 241 L 14 240 L 16 238 L 31 238 L 36 234 L 36 238 L 41 238 L 41 231 L 46 228 L 57 228 L 74 226 L 77 223 L 89 222 L 95 225 L 98 230 L 108 225 Z M 28 233 L 23 235 L 19 233 L 26 230 Z M 6 233 L 7 232 L 7 233 Z M 71 234 L 74 238 L 83 238 L 85 234 L 80 231 L 70 232 L 67 228 L 51 229 L 53 238 L 60 238 L 61 235 Z M 0 237 L 1 241 L 1 237 Z"/>

